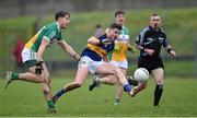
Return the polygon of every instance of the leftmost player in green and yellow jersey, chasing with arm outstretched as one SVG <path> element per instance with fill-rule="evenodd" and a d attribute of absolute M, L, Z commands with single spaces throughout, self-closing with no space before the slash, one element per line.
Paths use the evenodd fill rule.
<path fill-rule="evenodd" d="M 53 43 L 59 46 L 72 58 L 79 60 L 80 56 L 62 39 L 61 31 L 67 28 L 70 23 L 70 14 L 66 11 L 59 11 L 55 15 L 56 22 L 44 26 L 34 37 L 32 37 L 22 51 L 22 59 L 30 72 L 18 73 L 7 72 L 4 87 L 15 80 L 22 80 L 43 84 L 43 93 L 48 105 L 48 113 L 56 113 L 54 102 L 51 101 L 50 80 L 47 67 L 43 60 L 45 49 Z"/>

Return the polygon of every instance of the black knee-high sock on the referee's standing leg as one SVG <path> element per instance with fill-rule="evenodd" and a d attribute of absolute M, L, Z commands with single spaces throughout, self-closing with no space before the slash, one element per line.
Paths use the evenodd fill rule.
<path fill-rule="evenodd" d="M 153 103 L 154 106 L 159 106 L 162 93 L 163 93 L 163 85 L 157 85 L 154 90 L 154 103 Z"/>

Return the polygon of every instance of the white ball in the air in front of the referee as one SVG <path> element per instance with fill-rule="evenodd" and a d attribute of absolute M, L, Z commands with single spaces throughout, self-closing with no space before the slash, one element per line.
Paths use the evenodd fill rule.
<path fill-rule="evenodd" d="M 137 81 L 147 81 L 149 79 L 149 71 L 144 68 L 138 68 L 134 73 L 134 78 Z"/>

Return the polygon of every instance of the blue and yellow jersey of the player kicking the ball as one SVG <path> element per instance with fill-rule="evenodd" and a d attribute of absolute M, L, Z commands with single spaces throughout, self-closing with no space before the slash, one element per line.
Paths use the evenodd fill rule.
<path fill-rule="evenodd" d="M 92 36 L 90 39 L 99 39 L 99 40 L 103 40 L 106 39 L 106 35 L 101 35 L 101 36 Z M 107 56 L 107 54 L 109 51 L 112 51 L 114 49 L 114 42 L 112 42 L 112 44 L 108 45 L 104 45 L 104 44 L 88 44 L 86 48 L 82 51 L 81 57 L 82 56 L 88 56 L 90 57 L 92 60 L 94 61 L 101 61 L 102 58 L 104 56 Z"/>

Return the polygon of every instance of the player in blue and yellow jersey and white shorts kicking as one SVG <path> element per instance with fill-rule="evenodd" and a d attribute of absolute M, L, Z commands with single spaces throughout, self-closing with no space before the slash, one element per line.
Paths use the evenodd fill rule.
<path fill-rule="evenodd" d="M 114 49 L 114 40 L 118 37 L 120 30 L 121 26 L 115 23 L 109 26 L 105 34 L 92 36 L 88 39 L 88 46 L 81 54 L 76 79 L 53 96 L 54 103 L 62 94 L 81 87 L 89 72 L 114 76 L 113 80 L 117 80 L 125 91 L 131 95 L 132 87 L 129 85 L 121 70 L 107 62 L 107 54 Z"/>

